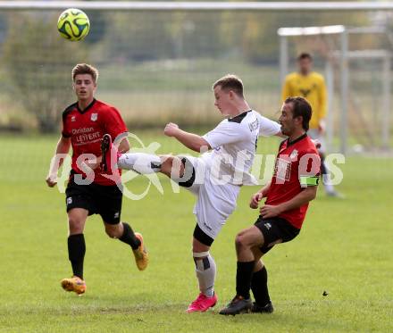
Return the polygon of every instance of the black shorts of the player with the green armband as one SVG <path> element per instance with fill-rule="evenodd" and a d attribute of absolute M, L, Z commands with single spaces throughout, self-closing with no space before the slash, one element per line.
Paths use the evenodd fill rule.
<path fill-rule="evenodd" d="M 263 254 L 272 250 L 276 244 L 292 240 L 300 232 L 300 229 L 280 217 L 263 219 L 262 216 L 259 216 L 255 221 L 255 227 L 260 229 L 263 234 L 264 244 L 259 248 Z"/>

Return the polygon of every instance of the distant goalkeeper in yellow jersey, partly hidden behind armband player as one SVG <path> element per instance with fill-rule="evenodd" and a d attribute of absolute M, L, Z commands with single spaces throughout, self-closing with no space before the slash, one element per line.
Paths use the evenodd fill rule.
<path fill-rule="evenodd" d="M 331 185 L 330 172 L 326 167 L 324 153 L 326 117 L 326 86 L 322 75 L 312 71 L 313 57 L 302 53 L 297 57 L 298 71 L 287 75 L 282 87 L 282 101 L 291 96 L 302 96 L 311 104 L 313 115 L 310 120 L 310 129 L 307 134 L 321 142 L 318 152 L 321 156 L 321 174 L 323 185 L 328 196 L 340 196 Z"/>

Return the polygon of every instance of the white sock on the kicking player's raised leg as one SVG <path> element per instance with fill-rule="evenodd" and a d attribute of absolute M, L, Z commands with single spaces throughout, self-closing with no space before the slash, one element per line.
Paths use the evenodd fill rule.
<path fill-rule="evenodd" d="M 117 162 L 119 169 L 136 171 L 147 174 L 158 172 L 161 169 L 161 159 L 154 154 L 127 153 L 121 154 Z"/>

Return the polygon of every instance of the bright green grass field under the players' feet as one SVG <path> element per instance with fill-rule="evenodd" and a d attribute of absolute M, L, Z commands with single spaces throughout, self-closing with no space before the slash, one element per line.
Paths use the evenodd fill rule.
<path fill-rule="evenodd" d="M 161 153 L 184 152 L 171 139 Z M 64 195 L 45 184 L 56 137 L 0 137 L 0 331 L 2 332 L 297 332 L 393 330 L 391 170 L 393 159 L 348 157 L 339 190 L 347 197 L 319 196 L 299 237 L 265 257 L 276 311 L 230 318 L 218 310 L 234 295 L 234 237 L 255 221 L 247 208 L 256 187 L 243 187 L 212 253 L 218 266 L 219 304 L 211 312 L 187 314 L 197 296 L 190 239 L 194 197 L 164 195 L 152 187 L 143 200 L 123 201 L 122 220 L 143 232 L 151 263 L 139 272 L 130 248 L 105 236 L 97 216 L 88 219 L 85 279 L 88 291 L 63 292 L 71 275 L 67 258 Z M 275 153 L 277 140 L 261 140 Z M 129 188 L 141 193 L 146 179 Z M 323 291 L 329 293 L 322 296 Z"/>

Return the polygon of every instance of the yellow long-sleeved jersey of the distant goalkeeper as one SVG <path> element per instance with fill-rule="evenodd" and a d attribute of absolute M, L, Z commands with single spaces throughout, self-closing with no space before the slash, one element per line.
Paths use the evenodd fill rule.
<path fill-rule="evenodd" d="M 322 75 L 315 71 L 306 76 L 298 72 L 288 74 L 282 87 L 282 101 L 292 96 L 305 97 L 311 104 L 310 129 L 318 129 L 321 119 L 326 116 L 326 86 Z"/>

